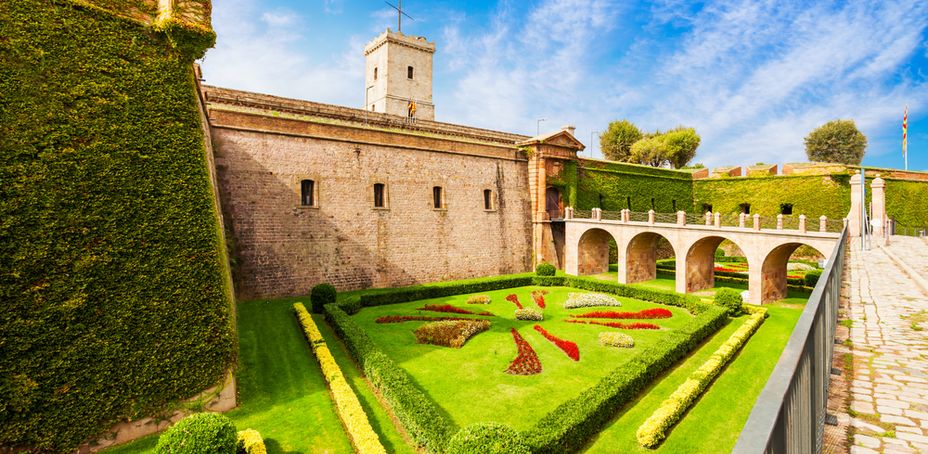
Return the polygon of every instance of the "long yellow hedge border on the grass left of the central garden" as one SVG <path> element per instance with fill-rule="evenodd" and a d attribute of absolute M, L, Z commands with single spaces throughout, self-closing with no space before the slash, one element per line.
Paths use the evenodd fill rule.
<path fill-rule="evenodd" d="M 322 338 L 322 333 L 319 331 L 319 327 L 316 326 L 316 322 L 313 321 L 312 316 L 309 315 L 302 303 L 294 304 L 293 310 L 303 327 L 306 338 L 309 339 L 313 354 L 319 360 L 322 375 L 325 376 L 325 381 L 329 384 L 329 391 L 332 393 L 332 400 L 335 402 L 335 409 L 345 425 L 348 437 L 351 439 L 355 450 L 365 454 L 386 454 L 387 451 L 380 443 L 380 438 L 377 437 L 374 428 L 371 427 L 367 414 L 364 413 L 361 402 L 358 401 L 358 396 L 355 395 L 354 390 L 345 381 L 345 376 L 342 375 L 341 369 L 335 362 L 335 357 L 332 356 L 332 352 L 325 345 L 325 340 Z"/>

